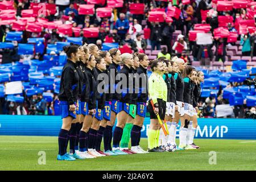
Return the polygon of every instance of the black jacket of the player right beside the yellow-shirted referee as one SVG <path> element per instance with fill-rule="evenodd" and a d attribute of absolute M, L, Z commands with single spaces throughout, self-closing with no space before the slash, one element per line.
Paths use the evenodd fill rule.
<path fill-rule="evenodd" d="M 148 98 L 148 77 L 147 77 L 147 68 L 143 68 L 142 65 L 139 65 L 137 68 L 137 76 L 139 76 L 139 93 L 137 102 L 147 102 Z"/>

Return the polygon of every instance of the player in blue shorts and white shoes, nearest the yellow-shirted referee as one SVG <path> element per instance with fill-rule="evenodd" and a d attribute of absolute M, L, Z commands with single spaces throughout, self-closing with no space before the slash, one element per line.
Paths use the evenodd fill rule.
<path fill-rule="evenodd" d="M 144 53 L 138 54 L 139 58 L 139 68 L 137 68 L 137 76 L 139 81 L 139 93 L 137 99 L 137 112 L 136 117 L 131 129 L 131 151 L 141 154 L 148 153 L 144 151 L 140 146 L 141 141 L 141 129 L 143 126 L 144 119 L 146 117 L 146 102 L 148 97 L 148 78 L 147 78 L 147 67 L 148 67 L 148 57 Z"/>

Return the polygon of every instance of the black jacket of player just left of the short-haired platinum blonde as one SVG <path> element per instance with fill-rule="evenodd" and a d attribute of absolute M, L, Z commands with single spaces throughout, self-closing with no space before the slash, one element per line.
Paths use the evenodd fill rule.
<path fill-rule="evenodd" d="M 120 81 L 117 77 L 118 75 L 118 64 L 115 64 L 114 62 L 112 64 L 109 64 L 109 71 L 110 71 L 110 89 L 112 92 L 112 99 L 113 100 L 121 100 L 121 93 L 117 93 L 117 90 L 115 89 L 118 82 Z"/>

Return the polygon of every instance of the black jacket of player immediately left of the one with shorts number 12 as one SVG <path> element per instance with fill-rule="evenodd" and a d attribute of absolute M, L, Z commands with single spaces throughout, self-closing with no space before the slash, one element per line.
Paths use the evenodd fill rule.
<path fill-rule="evenodd" d="M 100 71 L 100 69 L 94 68 L 93 69 L 93 73 L 94 73 L 94 77 L 97 80 L 97 85 L 103 85 L 103 88 L 98 88 L 98 89 L 102 89 L 102 90 L 98 90 L 96 89 L 96 99 L 98 101 L 98 109 L 104 109 L 105 106 L 105 101 L 106 101 L 106 94 L 104 92 L 105 90 L 105 80 L 101 80 L 98 79 L 98 75 L 100 75 L 101 73 L 103 73 L 102 71 Z"/>

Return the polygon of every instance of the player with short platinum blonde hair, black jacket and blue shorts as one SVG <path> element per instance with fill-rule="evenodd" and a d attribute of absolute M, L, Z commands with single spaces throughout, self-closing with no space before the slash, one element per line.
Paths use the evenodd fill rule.
<path fill-rule="evenodd" d="M 117 91 L 121 91 L 121 100 L 119 101 L 118 105 L 117 126 L 115 126 L 113 133 L 113 151 L 120 155 L 126 155 L 132 153 L 128 151 L 121 151 L 119 143 L 122 138 L 123 128 L 125 127 L 125 123 L 129 117 L 129 107 L 133 96 L 131 90 L 129 89 L 133 87 L 130 85 L 133 83 L 133 77 L 130 75 L 130 73 L 132 73 L 134 60 L 133 55 L 130 53 L 123 53 L 121 57 L 123 68 L 119 72 L 118 77 L 123 83 L 119 86 L 117 85 L 117 89 L 120 89 Z M 126 81 L 126 83 L 123 80 Z"/>

